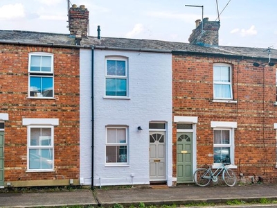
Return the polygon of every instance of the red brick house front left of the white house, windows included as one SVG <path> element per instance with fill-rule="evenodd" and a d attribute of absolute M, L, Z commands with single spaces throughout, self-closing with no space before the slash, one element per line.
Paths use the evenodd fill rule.
<path fill-rule="evenodd" d="M 0 64 L 0 187 L 79 178 L 79 50 L 2 40 Z"/>

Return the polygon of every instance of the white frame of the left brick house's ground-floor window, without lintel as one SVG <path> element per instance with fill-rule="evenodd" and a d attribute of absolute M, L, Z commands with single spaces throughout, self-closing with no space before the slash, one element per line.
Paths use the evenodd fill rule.
<path fill-rule="evenodd" d="M 51 129 L 51 145 L 43 146 L 31 146 L 30 145 L 30 133 L 33 128 L 50 128 Z M 30 150 L 43 150 L 43 149 L 52 149 L 52 168 L 39 168 L 33 169 L 30 168 Z M 54 153 L 54 126 L 53 125 L 28 125 L 27 126 L 27 172 L 53 172 L 54 171 L 54 162 L 55 162 L 55 153 Z"/>

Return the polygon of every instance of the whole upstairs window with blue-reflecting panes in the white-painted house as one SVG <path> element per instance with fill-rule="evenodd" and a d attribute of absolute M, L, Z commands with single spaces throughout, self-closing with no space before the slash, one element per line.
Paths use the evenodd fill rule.
<path fill-rule="evenodd" d="M 106 60 L 106 96 L 127 96 L 127 60 Z"/>

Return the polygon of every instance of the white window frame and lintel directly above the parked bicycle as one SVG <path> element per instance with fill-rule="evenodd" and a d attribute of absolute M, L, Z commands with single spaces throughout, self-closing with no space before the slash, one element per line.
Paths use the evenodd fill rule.
<path fill-rule="evenodd" d="M 211 121 L 211 128 L 214 130 L 229 130 L 230 144 L 214 144 L 214 133 L 213 133 L 213 148 L 214 147 L 230 147 L 230 168 L 237 168 L 235 166 L 235 128 L 237 128 L 237 122 L 229 121 Z M 213 155 L 213 154 L 212 154 Z M 213 163 L 213 168 L 218 168 L 221 163 Z"/>

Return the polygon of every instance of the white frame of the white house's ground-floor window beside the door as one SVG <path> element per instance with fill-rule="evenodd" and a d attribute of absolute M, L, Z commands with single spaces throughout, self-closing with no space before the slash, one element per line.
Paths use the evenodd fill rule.
<path fill-rule="evenodd" d="M 125 143 L 108 143 L 109 129 L 125 129 Z M 128 126 L 123 125 L 107 125 L 105 128 L 105 166 L 129 166 L 129 138 Z M 126 146 L 127 155 L 126 162 L 107 162 L 107 146 Z"/>

